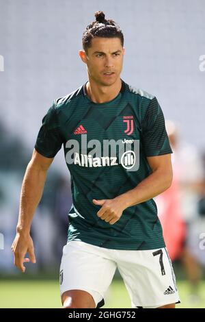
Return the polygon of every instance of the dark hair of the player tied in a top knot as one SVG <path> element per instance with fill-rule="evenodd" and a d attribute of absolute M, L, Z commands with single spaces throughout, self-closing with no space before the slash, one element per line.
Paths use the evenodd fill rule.
<path fill-rule="evenodd" d="M 112 19 L 105 19 L 105 14 L 102 11 L 95 12 L 96 21 L 90 23 L 83 32 L 83 49 L 87 51 L 87 48 L 91 47 L 91 40 L 94 37 L 103 38 L 120 38 L 122 47 L 124 45 L 124 36 L 120 26 Z"/>

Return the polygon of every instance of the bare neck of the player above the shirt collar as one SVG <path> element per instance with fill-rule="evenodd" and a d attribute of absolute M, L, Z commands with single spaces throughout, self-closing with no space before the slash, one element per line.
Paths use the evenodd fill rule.
<path fill-rule="evenodd" d="M 89 82 L 87 82 L 86 84 L 86 91 L 87 96 L 94 103 L 105 103 L 107 101 L 111 101 L 116 96 L 118 96 L 121 87 L 121 79 L 118 79 L 118 81 L 116 81 L 111 86 L 100 86 L 96 84 L 96 82 L 92 82 L 92 80 L 89 80 Z"/>

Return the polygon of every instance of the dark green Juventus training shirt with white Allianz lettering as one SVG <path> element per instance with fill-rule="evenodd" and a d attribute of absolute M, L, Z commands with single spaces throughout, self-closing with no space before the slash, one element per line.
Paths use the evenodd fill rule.
<path fill-rule="evenodd" d="M 108 142 L 121 147 L 117 145 L 113 153 Z M 98 218 L 100 206 L 92 202 L 113 199 L 135 188 L 151 173 L 146 157 L 172 153 L 156 97 L 122 81 L 115 99 L 94 103 L 84 84 L 53 102 L 42 120 L 35 148 L 53 158 L 62 144 L 73 200 L 68 241 L 82 240 L 109 249 L 165 247 L 153 199 L 126 208 L 114 225 Z M 124 153 L 122 147 L 126 147 Z"/>

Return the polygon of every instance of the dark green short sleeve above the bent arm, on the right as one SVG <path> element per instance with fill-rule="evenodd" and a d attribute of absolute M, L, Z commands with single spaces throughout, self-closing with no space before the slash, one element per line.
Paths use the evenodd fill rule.
<path fill-rule="evenodd" d="M 172 153 L 165 129 L 163 111 L 156 97 L 150 101 L 141 129 L 143 150 L 146 156 L 161 156 Z"/>

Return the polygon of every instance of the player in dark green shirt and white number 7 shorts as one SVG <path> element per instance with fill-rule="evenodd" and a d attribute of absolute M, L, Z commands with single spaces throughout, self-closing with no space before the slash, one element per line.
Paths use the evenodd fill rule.
<path fill-rule="evenodd" d="M 133 307 L 174 308 L 178 290 L 152 199 L 172 183 L 163 112 L 156 97 L 120 78 L 122 30 L 103 12 L 95 16 L 79 51 L 88 81 L 53 102 L 27 166 L 14 264 L 24 272 L 24 262 L 36 262 L 31 220 L 63 144 L 73 199 L 60 267 L 63 307 L 103 306 L 118 267 Z"/>

